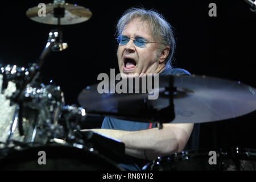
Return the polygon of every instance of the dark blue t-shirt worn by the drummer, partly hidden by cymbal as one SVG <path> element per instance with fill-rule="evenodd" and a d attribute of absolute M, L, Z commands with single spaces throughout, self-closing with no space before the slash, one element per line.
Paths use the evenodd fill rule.
<path fill-rule="evenodd" d="M 163 72 L 159 73 L 161 75 L 191 75 L 185 69 L 172 68 L 164 69 Z M 144 123 L 144 122 L 134 122 L 126 121 L 123 119 L 117 119 L 112 117 L 105 117 L 102 123 L 101 129 L 114 129 L 114 130 L 125 130 L 125 131 L 139 131 L 146 130 L 156 127 L 157 123 Z M 199 133 L 200 124 L 195 124 L 191 137 L 189 138 L 184 150 L 197 150 L 199 148 Z M 125 164 L 119 164 L 128 170 L 140 170 L 145 164 L 145 160 L 133 158 L 132 156 L 126 155 L 127 162 Z"/>

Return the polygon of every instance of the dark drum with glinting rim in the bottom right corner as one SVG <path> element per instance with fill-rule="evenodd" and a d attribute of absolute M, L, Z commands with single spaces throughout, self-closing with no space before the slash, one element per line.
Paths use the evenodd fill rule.
<path fill-rule="evenodd" d="M 215 158 L 215 159 L 214 159 Z M 159 157 L 145 171 L 255 171 L 256 150 L 229 148 L 183 151 Z"/>

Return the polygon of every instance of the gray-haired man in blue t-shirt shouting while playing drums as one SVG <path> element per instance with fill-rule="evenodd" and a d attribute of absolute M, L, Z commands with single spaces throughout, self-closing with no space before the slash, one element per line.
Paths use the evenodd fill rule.
<path fill-rule="evenodd" d="M 135 73 L 190 75 L 184 69 L 172 68 L 174 34 L 171 25 L 156 11 L 127 10 L 117 23 L 117 34 L 117 58 L 122 77 Z M 125 153 L 131 162 L 119 165 L 129 170 L 140 170 L 145 160 L 158 156 L 196 150 L 199 144 L 199 127 L 194 127 L 193 123 L 164 123 L 159 130 L 155 123 L 105 117 L 101 129 L 92 130 L 125 143 Z"/>

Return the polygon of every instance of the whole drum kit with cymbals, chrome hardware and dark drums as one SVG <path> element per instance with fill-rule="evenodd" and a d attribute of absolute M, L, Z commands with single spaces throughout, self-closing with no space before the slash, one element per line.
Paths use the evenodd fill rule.
<path fill-rule="evenodd" d="M 28 9 L 26 15 L 39 23 L 55 24 L 56 30 L 49 32 L 46 47 L 36 63 L 28 68 L 1 67 L 0 168 L 3 170 L 122 170 L 117 163 L 125 161 L 125 144 L 92 131 L 80 131 L 80 124 L 92 115 L 158 122 L 163 126 L 167 122 L 222 121 L 255 111 L 256 90 L 252 86 L 195 75 L 159 77 L 158 100 L 147 100 L 148 94 L 100 94 L 97 85 L 91 85 L 79 94 L 82 107 L 65 105 L 60 86 L 38 81 L 40 69 L 49 52 L 67 48 L 62 42 L 61 26 L 85 22 L 92 13 L 85 7 L 55 0 L 46 5 L 46 16 L 38 16 L 37 6 Z M 39 165 L 39 151 L 46 152 L 47 165 Z M 205 163 L 209 158 L 205 151 L 187 151 L 159 157 L 144 169 L 256 169 L 255 150 L 236 148 L 217 152 L 222 163 L 215 168 Z"/>

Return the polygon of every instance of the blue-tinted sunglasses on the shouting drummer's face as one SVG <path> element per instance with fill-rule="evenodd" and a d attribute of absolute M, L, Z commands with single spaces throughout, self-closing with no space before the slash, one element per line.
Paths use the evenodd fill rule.
<path fill-rule="evenodd" d="M 123 46 L 123 45 L 126 45 L 130 41 L 130 39 L 133 40 L 133 43 L 135 44 L 135 46 L 138 46 L 138 47 L 145 47 L 145 45 L 147 43 L 158 43 L 158 42 L 147 41 L 146 39 L 143 39 L 143 38 L 141 38 L 139 36 L 137 36 L 135 38 L 129 38 L 126 35 L 118 36 L 117 42 Z"/>

